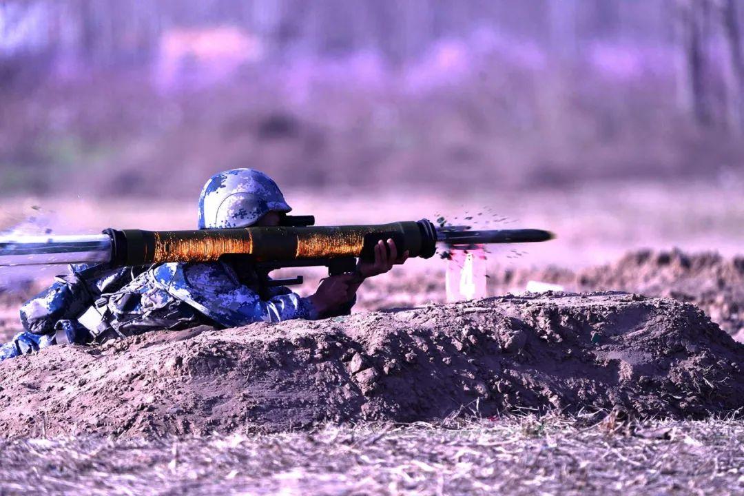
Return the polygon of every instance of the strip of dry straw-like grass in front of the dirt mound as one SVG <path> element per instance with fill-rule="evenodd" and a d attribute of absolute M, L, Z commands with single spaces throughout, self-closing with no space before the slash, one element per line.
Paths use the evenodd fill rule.
<path fill-rule="evenodd" d="M 587 418 L 0 441 L 2 494 L 734 494 L 744 423 Z"/>

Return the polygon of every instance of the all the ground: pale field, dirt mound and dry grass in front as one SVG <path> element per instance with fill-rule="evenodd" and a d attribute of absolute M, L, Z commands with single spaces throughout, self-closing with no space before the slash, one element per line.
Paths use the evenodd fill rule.
<path fill-rule="evenodd" d="M 741 492 L 744 346 L 729 338 L 744 328 L 739 196 L 713 183 L 446 201 L 295 194 L 295 212 L 321 224 L 484 212 L 492 227 L 559 237 L 494 249 L 481 302 L 444 306 L 446 261 L 416 260 L 365 283 L 350 318 L 4 362 L 0 492 Z M 182 202 L 10 199 L 0 222 L 190 228 L 192 213 Z M 53 274 L 4 271 L 4 338 Z M 502 296 L 529 280 L 599 293 Z"/>

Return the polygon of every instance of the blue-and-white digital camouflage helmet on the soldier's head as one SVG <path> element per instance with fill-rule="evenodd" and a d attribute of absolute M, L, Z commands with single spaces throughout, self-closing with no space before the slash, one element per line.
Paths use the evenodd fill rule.
<path fill-rule="evenodd" d="M 272 210 L 292 210 L 272 178 L 253 169 L 225 170 L 202 188 L 199 229 L 245 228 Z"/>

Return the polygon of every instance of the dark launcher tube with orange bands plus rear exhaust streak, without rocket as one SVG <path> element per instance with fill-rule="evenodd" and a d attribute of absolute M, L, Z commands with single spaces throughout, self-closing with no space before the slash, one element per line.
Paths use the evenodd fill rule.
<path fill-rule="evenodd" d="M 365 257 L 378 239 L 392 238 L 411 257 L 431 257 L 436 232 L 429 221 L 329 227 L 252 227 L 193 231 L 107 229 L 82 236 L 0 236 L 0 265 L 211 262 L 245 254 L 257 262 Z"/>

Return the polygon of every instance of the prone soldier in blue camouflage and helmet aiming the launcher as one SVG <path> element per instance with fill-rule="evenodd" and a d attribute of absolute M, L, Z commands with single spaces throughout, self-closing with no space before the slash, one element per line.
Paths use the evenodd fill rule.
<path fill-rule="evenodd" d="M 279 225 L 290 210 L 268 175 L 228 170 L 212 176 L 202 189 L 199 229 Z M 365 278 L 384 274 L 408 258 L 408 252 L 398 257 L 392 239 L 387 243 L 375 246 L 373 263 L 360 262 L 355 274 L 321 280 L 309 297 L 283 286 L 262 287 L 262 274 L 240 256 L 149 267 L 70 265 L 67 276 L 21 307 L 25 332 L 0 347 L 0 360 L 52 344 L 89 344 L 155 329 L 348 315 Z"/>

